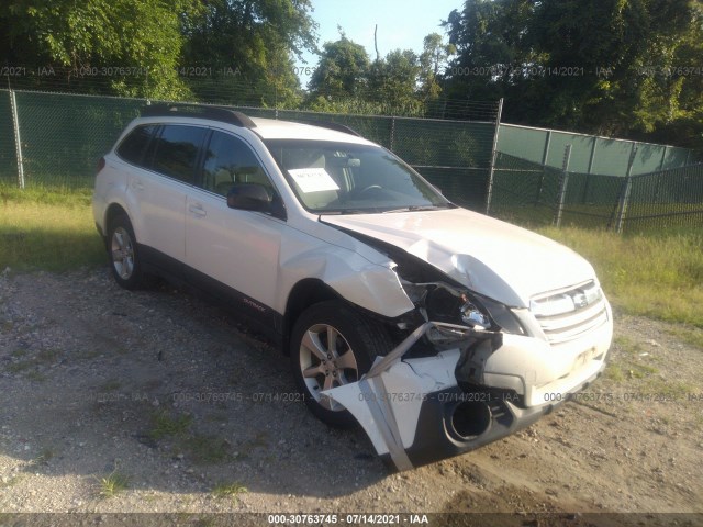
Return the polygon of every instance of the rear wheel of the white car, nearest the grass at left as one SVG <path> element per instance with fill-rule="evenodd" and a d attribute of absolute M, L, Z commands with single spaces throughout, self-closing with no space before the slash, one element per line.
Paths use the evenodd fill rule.
<path fill-rule="evenodd" d="M 124 289 L 135 290 L 144 285 L 142 261 L 134 236 L 134 228 L 126 214 L 115 216 L 108 228 L 108 256 L 115 282 Z"/>

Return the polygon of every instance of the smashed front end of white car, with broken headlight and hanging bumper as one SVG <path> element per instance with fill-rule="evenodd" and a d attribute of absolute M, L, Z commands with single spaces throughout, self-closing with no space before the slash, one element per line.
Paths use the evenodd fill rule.
<path fill-rule="evenodd" d="M 399 324 L 404 339 L 362 379 L 323 395 L 344 405 L 398 470 L 525 428 L 601 374 L 612 337 L 604 298 L 604 323 L 555 345 L 529 309 L 475 293 L 410 255 L 392 258 L 414 322 Z"/>

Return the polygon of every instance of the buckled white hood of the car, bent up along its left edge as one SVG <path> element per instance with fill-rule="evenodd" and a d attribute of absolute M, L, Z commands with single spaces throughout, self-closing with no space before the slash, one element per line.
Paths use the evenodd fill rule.
<path fill-rule="evenodd" d="M 321 217 L 389 243 L 477 293 L 515 307 L 595 279 L 591 265 L 544 236 L 466 209 Z"/>

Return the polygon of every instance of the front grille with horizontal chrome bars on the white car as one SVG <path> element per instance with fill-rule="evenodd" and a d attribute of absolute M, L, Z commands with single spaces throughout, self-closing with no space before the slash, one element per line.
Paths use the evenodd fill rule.
<path fill-rule="evenodd" d="M 603 292 L 592 280 L 536 296 L 529 310 L 551 344 L 577 339 L 607 322 Z"/>

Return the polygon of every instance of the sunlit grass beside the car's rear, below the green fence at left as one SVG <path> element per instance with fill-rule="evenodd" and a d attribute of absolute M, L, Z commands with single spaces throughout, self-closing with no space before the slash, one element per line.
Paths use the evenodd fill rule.
<path fill-rule="evenodd" d="M 0 272 L 104 262 L 90 200 L 89 190 L 0 186 Z"/>

